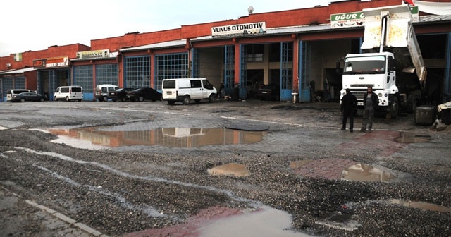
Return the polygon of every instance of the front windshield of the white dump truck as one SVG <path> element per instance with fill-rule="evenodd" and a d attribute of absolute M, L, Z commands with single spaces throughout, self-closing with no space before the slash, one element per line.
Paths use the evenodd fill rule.
<path fill-rule="evenodd" d="M 385 73 L 385 56 L 359 56 L 347 58 L 343 73 Z"/>

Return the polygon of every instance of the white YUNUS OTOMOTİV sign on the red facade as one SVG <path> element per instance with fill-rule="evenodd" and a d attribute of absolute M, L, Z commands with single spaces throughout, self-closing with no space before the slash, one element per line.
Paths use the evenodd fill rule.
<path fill-rule="evenodd" d="M 223 25 L 211 28 L 212 37 L 227 37 L 234 35 L 253 35 L 266 33 L 266 22 Z"/>

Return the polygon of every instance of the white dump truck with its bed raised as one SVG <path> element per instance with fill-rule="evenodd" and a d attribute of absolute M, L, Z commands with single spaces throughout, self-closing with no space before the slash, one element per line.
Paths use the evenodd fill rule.
<path fill-rule="evenodd" d="M 347 54 L 340 101 L 347 88 L 363 107 L 367 87 L 378 95 L 378 111 L 388 119 L 400 109 L 412 113 L 424 97 L 426 68 L 408 5 L 367 8 L 361 54 Z"/>

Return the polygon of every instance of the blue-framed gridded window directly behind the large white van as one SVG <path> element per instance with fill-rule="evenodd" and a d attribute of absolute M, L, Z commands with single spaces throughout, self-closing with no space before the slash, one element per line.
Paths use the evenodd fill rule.
<path fill-rule="evenodd" d="M 161 90 L 163 79 L 190 78 L 188 54 L 163 54 L 155 56 L 154 89 Z"/>

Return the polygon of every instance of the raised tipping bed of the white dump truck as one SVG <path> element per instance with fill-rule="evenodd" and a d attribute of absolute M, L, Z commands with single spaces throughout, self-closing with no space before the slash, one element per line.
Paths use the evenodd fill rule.
<path fill-rule="evenodd" d="M 409 6 L 369 8 L 363 9 L 363 12 L 365 32 L 361 49 L 366 52 L 374 52 L 378 48 L 392 51 L 402 71 L 415 72 L 421 84 L 424 84 L 426 68 L 416 41 Z M 383 29 L 386 29 L 385 32 Z"/>

